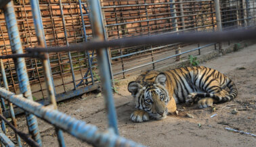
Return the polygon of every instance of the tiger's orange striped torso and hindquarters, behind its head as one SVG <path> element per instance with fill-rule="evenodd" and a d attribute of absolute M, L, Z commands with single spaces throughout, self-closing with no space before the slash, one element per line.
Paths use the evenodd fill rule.
<path fill-rule="evenodd" d="M 197 93 L 195 96 L 211 97 L 219 102 L 232 100 L 238 94 L 230 78 L 209 67 L 182 67 L 164 73 L 169 82 L 167 85 L 173 87 L 176 102 L 186 102 L 186 98 L 194 92 Z M 226 87 L 230 89 L 229 93 L 224 90 Z"/>

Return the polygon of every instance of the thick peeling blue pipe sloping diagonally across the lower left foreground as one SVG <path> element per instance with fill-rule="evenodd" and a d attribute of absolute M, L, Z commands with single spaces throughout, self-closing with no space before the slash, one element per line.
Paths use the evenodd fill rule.
<path fill-rule="evenodd" d="M 87 124 L 85 121 L 79 121 L 60 111 L 49 109 L 40 105 L 38 102 L 27 100 L 22 95 L 15 95 L 4 88 L 0 88 L 0 96 L 13 102 L 16 106 L 24 109 L 24 111 L 37 115 L 37 117 L 93 146 L 142 146 L 141 144 L 114 134 L 112 128 L 102 132 L 95 125 Z"/>

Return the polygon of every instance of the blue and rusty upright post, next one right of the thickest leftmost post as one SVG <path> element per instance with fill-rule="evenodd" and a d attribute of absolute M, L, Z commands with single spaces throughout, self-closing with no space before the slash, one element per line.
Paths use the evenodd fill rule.
<path fill-rule="evenodd" d="M 39 9 L 39 1 L 37 0 L 30 0 L 30 5 L 32 8 L 33 13 L 33 20 L 35 24 L 35 30 L 37 33 L 37 41 L 39 42 L 39 47 L 46 47 L 44 32 L 43 32 L 43 24 L 41 20 L 41 13 Z M 45 57 L 49 57 L 47 53 L 44 54 Z M 56 97 L 54 92 L 54 82 L 52 81 L 51 70 L 49 67 L 49 59 L 43 59 L 43 71 L 45 73 L 45 84 L 47 87 L 47 94 L 50 100 L 51 106 L 54 109 L 57 109 Z M 58 136 L 58 142 L 60 146 L 65 146 L 64 137 L 61 129 L 56 127 L 56 134 Z"/>

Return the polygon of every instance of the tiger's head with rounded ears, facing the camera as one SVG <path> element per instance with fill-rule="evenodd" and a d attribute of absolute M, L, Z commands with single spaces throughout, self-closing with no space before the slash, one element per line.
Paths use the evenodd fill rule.
<path fill-rule="evenodd" d="M 154 119 L 164 119 L 168 114 L 167 104 L 170 100 L 166 80 L 165 73 L 159 73 L 151 82 L 130 82 L 128 90 L 135 98 L 135 107 L 146 111 Z"/>

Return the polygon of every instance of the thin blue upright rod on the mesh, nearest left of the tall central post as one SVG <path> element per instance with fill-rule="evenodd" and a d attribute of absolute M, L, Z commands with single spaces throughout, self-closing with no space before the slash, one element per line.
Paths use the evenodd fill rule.
<path fill-rule="evenodd" d="M 83 9 L 82 9 L 81 0 L 79 0 L 79 8 L 80 8 L 81 20 L 82 20 L 82 25 L 83 25 L 83 34 L 85 35 L 85 42 L 86 42 L 87 36 L 86 36 L 86 30 L 85 30 L 85 20 L 83 20 Z M 89 69 L 90 69 L 90 74 L 91 74 L 91 82 L 92 82 L 92 84 L 94 84 L 93 73 L 92 73 L 92 69 L 91 69 L 91 57 L 90 57 L 89 51 L 86 51 L 86 54 L 87 54 Z"/>

